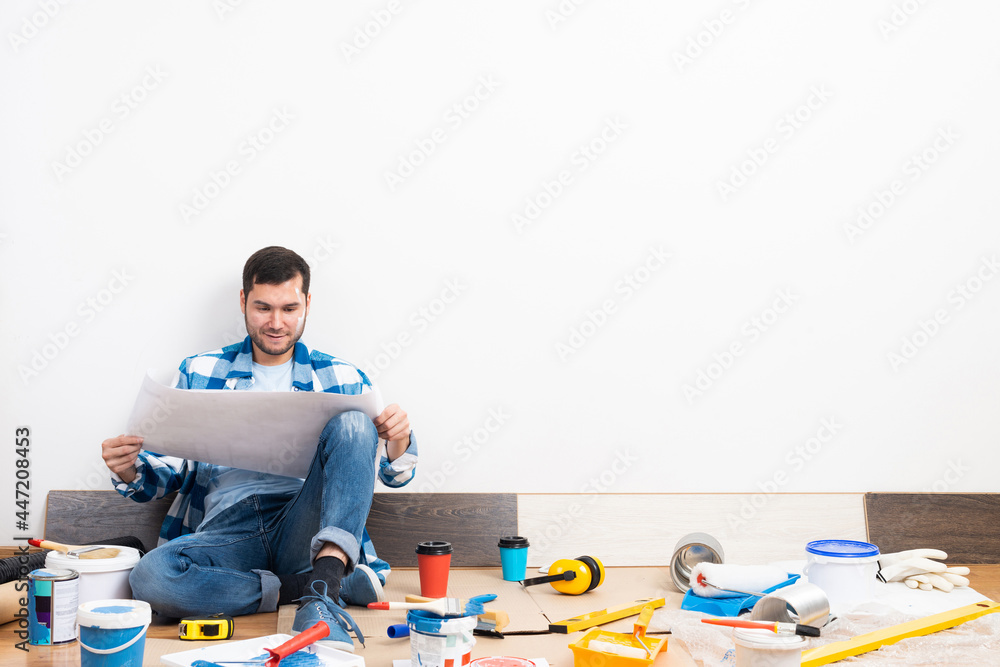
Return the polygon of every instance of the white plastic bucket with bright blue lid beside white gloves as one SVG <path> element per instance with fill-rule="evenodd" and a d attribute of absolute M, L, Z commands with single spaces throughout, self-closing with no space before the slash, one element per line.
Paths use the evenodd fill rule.
<path fill-rule="evenodd" d="M 806 545 L 805 575 L 823 589 L 830 611 L 843 614 L 875 595 L 878 547 L 852 540 L 817 540 Z"/>

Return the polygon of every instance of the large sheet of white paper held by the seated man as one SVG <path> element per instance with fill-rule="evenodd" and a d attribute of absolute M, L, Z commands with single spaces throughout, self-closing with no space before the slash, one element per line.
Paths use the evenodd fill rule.
<path fill-rule="evenodd" d="M 143 379 L 127 435 L 149 452 L 289 477 L 305 477 L 331 417 L 382 411 L 378 390 L 361 395 L 310 391 L 174 389 Z"/>

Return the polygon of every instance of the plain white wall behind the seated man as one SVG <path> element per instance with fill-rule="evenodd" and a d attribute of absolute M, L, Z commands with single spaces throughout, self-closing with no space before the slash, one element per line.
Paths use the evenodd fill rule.
<path fill-rule="evenodd" d="M 0 8 L 33 525 L 104 488 L 145 369 L 235 340 L 270 244 L 409 412 L 411 489 L 1000 490 L 995 3 L 226 1 Z"/>

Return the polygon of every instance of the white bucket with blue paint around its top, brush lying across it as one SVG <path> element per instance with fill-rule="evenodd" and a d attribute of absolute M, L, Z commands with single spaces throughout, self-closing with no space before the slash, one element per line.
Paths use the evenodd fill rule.
<path fill-rule="evenodd" d="M 475 616 L 445 617 L 423 609 L 406 613 L 410 627 L 410 663 L 420 667 L 467 665 L 476 638 Z"/>

